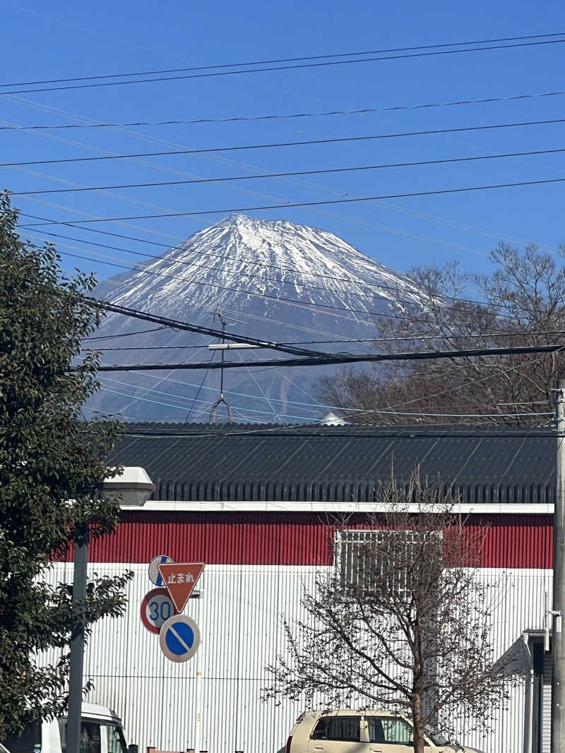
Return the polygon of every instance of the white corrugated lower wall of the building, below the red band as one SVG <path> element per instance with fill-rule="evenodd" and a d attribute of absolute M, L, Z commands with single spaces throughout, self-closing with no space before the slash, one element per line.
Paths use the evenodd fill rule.
<path fill-rule="evenodd" d="M 94 627 L 84 665 L 85 678 L 95 685 L 88 700 L 118 712 L 140 753 L 148 745 L 183 751 L 197 745 L 199 735 L 200 750 L 209 753 L 276 753 L 302 709 L 261 702 L 261 687 L 268 682 L 264 666 L 285 648 L 280 615 L 302 616 L 302 590 L 313 590 L 319 568 L 206 566 L 198 584 L 202 599 L 191 599 L 185 608 L 200 626 L 202 645 L 194 659 L 181 664 L 161 654 L 158 636 L 139 619 L 142 598 L 154 587 L 147 566 L 89 566 L 90 574 L 100 575 L 124 569 L 135 572 L 127 614 Z M 551 572 L 483 570 L 480 577 L 493 584 L 493 635 L 502 655 L 523 630 L 542 627 Z M 50 578 L 72 580 L 72 565 L 56 564 Z M 521 751 L 523 729 L 524 690 L 517 687 L 509 708 L 499 712 L 495 731 L 464 736 L 462 742 L 489 753 Z"/>

